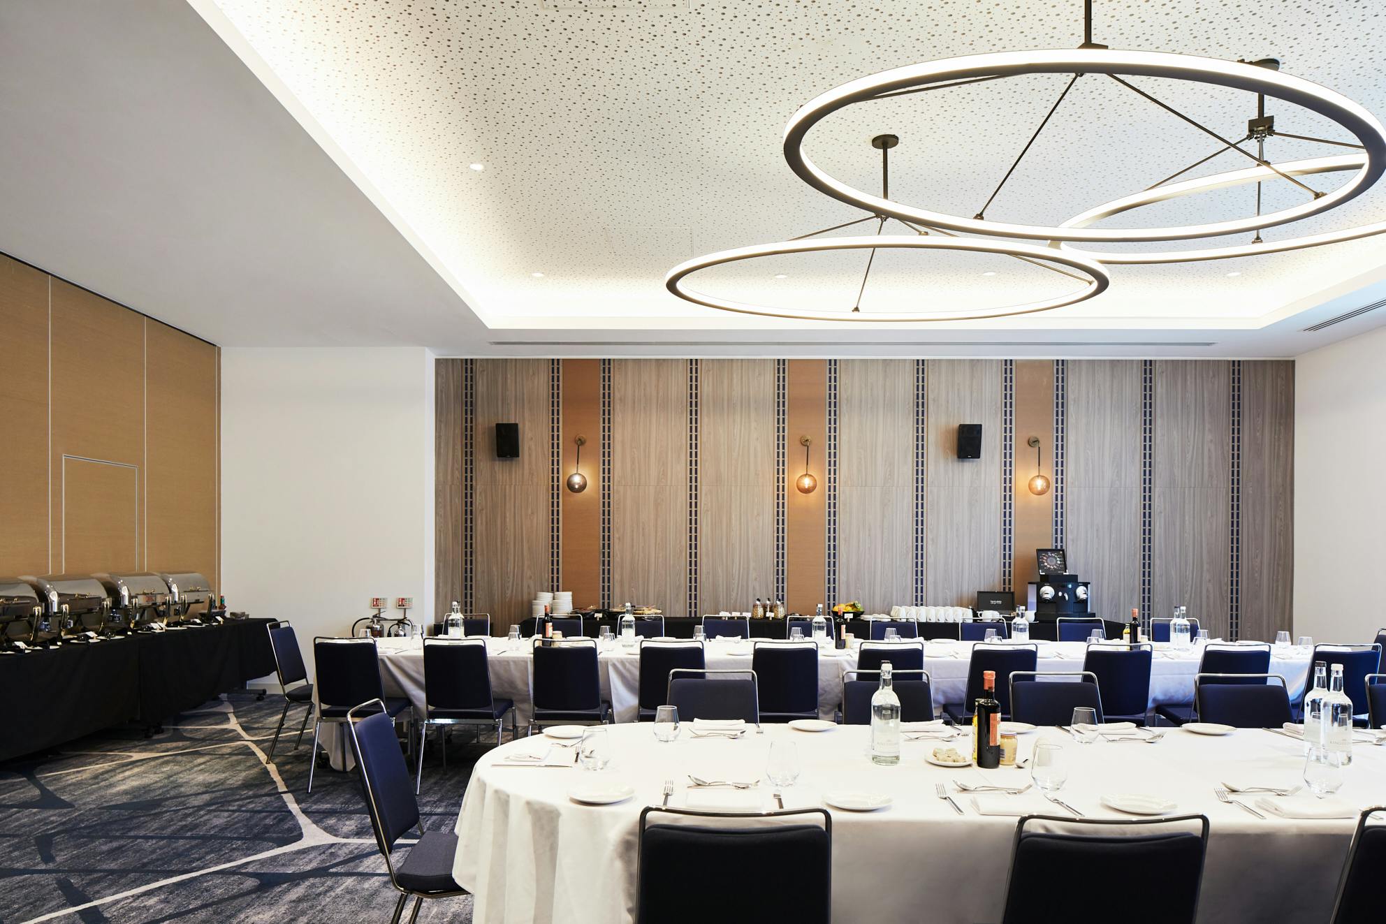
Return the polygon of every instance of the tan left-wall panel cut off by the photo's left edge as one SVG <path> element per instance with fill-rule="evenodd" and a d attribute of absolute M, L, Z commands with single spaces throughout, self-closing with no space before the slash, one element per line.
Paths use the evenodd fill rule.
<path fill-rule="evenodd" d="M 47 574 L 49 277 L 0 256 L 0 574 Z"/>

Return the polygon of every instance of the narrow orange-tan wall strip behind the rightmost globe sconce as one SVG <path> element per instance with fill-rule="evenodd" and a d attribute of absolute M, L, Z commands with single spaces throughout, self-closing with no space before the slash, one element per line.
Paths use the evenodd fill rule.
<path fill-rule="evenodd" d="M 1069 363 L 1071 368 L 1074 363 Z M 1071 382 L 1071 373 L 1070 373 Z M 1071 385 L 1070 385 L 1071 388 Z M 1053 490 L 1030 493 L 1035 474 L 1035 450 L 1027 441 L 1038 436 L 1044 449 L 1044 474 L 1053 478 L 1053 360 L 1017 359 L 1015 377 L 1015 524 L 1010 586 L 1024 600 L 1026 585 L 1035 580 L 1035 549 L 1053 543 Z M 1073 405 L 1069 405 L 1070 418 Z M 985 438 L 985 434 L 983 435 Z M 1070 506 L 1071 521 L 1071 506 Z M 980 590 L 980 587 L 979 587 Z"/>

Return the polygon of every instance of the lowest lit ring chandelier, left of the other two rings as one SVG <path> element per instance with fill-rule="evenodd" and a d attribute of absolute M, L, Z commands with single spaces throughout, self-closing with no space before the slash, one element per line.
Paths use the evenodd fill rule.
<path fill-rule="evenodd" d="M 870 220 L 870 219 L 866 219 Z M 728 263 L 736 263 L 740 260 L 757 259 L 761 256 L 780 256 L 786 254 L 819 254 L 823 251 L 876 251 L 876 249 L 916 249 L 916 251 L 965 251 L 972 254 L 999 254 L 1003 256 L 1020 256 L 1027 260 L 1034 260 L 1040 263 L 1058 263 L 1066 266 L 1071 270 L 1077 270 L 1088 276 L 1088 283 L 1084 288 L 1077 292 L 1067 295 L 1060 295 L 1051 299 L 1042 299 L 1038 302 L 1028 302 L 1023 305 L 1010 305 L 997 309 L 985 310 L 963 310 L 963 312 L 880 312 L 880 313 L 862 313 L 858 308 L 854 308 L 851 313 L 843 312 L 790 312 L 773 308 L 764 308 L 760 305 L 747 305 L 743 302 L 735 302 L 730 299 L 717 298 L 712 295 L 705 295 L 700 292 L 693 292 L 683 285 L 683 280 L 699 270 L 705 270 L 714 266 L 723 266 Z M 783 317 L 791 320 L 802 321 L 857 321 L 857 323 L 881 323 L 881 321 L 970 321 L 981 320 L 988 317 L 1010 317 L 1015 314 L 1034 314 L 1037 312 L 1048 312 L 1055 308 L 1063 308 L 1064 305 L 1073 305 L 1076 302 L 1082 302 L 1089 299 L 1110 284 L 1112 277 L 1107 276 L 1106 269 L 1088 256 L 1074 252 L 1064 252 L 1056 248 L 1042 247 L 1038 244 L 1016 244 L 1012 241 L 988 241 L 977 238 L 965 237 L 949 237 L 949 238 L 934 238 L 934 237 L 920 237 L 920 236 L 905 236 L 905 234 L 887 234 L 887 236 L 851 236 L 851 237 L 826 237 L 814 240 L 796 240 L 796 241 L 780 241 L 776 244 L 753 244 L 751 247 L 737 247 L 729 251 L 718 251 L 715 254 L 707 254 L 704 256 L 694 258 L 692 260 L 685 260 L 679 263 L 668 276 L 664 278 L 665 288 L 679 298 L 694 302 L 697 305 L 704 305 L 707 308 L 715 308 L 723 312 L 736 312 L 739 314 L 758 314 L 761 317 Z"/>

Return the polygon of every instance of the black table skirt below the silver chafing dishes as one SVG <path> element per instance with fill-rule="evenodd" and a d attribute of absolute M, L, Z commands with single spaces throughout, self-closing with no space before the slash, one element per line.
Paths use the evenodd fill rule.
<path fill-rule="evenodd" d="M 269 619 L 0 657 L 0 761 L 126 722 L 159 725 L 274 672 Z"/>

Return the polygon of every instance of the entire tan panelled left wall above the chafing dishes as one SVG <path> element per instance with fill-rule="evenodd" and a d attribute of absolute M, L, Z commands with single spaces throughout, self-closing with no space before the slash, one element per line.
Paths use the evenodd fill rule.
<path fill-rule="evenodd" d="M 0 256 L 0 575 L 219 574 L 220 352 Z"/>

